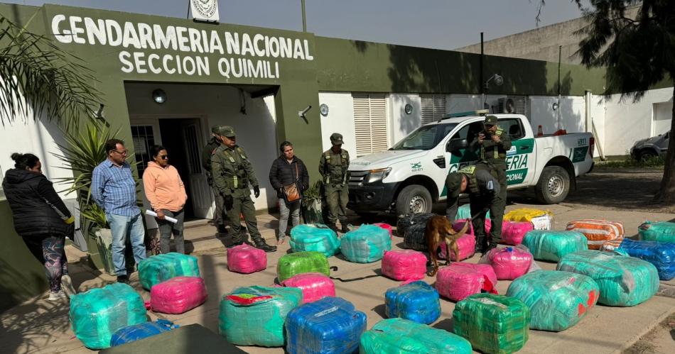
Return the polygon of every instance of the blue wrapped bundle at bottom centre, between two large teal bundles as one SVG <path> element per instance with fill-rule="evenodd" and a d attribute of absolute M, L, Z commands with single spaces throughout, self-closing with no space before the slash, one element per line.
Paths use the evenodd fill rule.
<path fill-rule="evenodd" d="M 387 236 L 388 237 L 388 236 Z M 286 351 L 291 354 L 357 353 L 366 314 L 340 297 L 324 297 L 286 317 Z"/>

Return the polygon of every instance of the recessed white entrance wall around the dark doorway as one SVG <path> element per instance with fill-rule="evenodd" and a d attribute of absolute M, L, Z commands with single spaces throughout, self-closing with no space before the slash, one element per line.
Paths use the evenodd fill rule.
<path fill-rule="evenodd" d="M 244 92 L 247 114 L 241 107 L 239 89 L 225 85 L 198 84 L 126 84 L 126 103 L 132 120 L 139 118 L 200 118 L 202 143 L 210 138 L 211 126 L 234 127 L 239 144 L 249 156 L 260 184 L 260 197 L 254 198 L 256 209 L 276 206 L 276 192 L 269 184 L 269 168 L 279 157 L 276 141 L 274 97 L 252 99 Z M 152 100 L 154 89 L 166 92 L 166 102 Z"/>

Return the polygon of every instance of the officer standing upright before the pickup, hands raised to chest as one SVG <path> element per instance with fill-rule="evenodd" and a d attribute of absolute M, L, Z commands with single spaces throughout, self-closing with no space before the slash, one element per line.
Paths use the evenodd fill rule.
<path fill-rule="evenodd" d="M 480 162 L 485 163 L 492 170 L 492 175 L 497 177 L 500 182 L 500 199 L 495 209 L 500 209 L 500 215 L 504 215 L 504 208 L 507 201 L 507 180 L 506 180 L 506 156 L 511 148 L 511 137 L 506 131 L 498 125 L 497 116 L 485 117 L 485 130 L 478 133 L 478 136 L 471 143 L 473 150 L 480 150 L 478 154 Z M 492 214 L 492 211 L 490 211 Z M 501 219 L 501 218 L 500 218 Z M 502 222 L 492 223 L 490 230 L 493 240 L 502 239 Z"/>

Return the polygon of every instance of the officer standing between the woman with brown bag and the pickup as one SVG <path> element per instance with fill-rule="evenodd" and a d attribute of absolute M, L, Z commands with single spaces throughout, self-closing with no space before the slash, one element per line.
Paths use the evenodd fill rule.
<path fill-rule="evenodd" d="M 349 153 L 342 149 L 342 134 L 330 135 L 333 147 L 324 151 L 319 160 L 319 173 L 323 176 L 324 197 L 328 204 L 328 226 L 338 231 L 335 221 L 340 220 L 342 233 L 347 228 L 347 201 L 349 201 Z"/>

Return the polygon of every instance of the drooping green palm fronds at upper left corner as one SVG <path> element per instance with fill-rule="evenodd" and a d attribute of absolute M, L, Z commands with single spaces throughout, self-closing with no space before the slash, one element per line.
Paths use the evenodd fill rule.
<path fill-rule="evenodd" d="M 99 103 L 93 72 L 26 26 L 0 15 L 0 122 L 13 123 L 32 111 L 66 129 L 76 127 L 80 117 L 91 116 L 90 106 Z"/>

